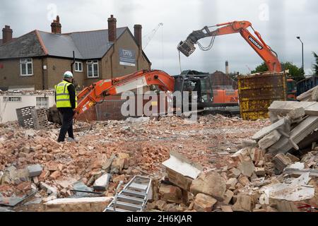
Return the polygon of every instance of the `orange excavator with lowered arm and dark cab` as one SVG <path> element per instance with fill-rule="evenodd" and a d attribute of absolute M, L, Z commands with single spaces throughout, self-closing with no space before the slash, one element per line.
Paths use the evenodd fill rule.
<path fill-rule="evenodd" d="M 151 85 L 155 85 L 156 90 L 164 92 L 169 91 L 170 93 L 174 93 L 175 91 L 179 91 L 182 95 L 182 103 L 184 103 L 183 93 L 184 91 L 188 91 L 189 101 L 196 101 L 198 109 L 237 106 L 237 100 L 231 98 L 235 97 L 237 93 L 230 90 L 212 90 L 211 77 L 208 73 L 200 74 L 194 73 L 194 71 L 192 73 L 187 71 L 180 76 L 170 76 L 160 70 L 143 70 L 111 80 L 101 80 L 84 88 L 78 94 L 78 107 L 76 108 L 75 118 L 79 114 L 86 112 L 90 107 L 102 103 L 105 97 L 109 95 L 117 95 Z M 193 92 L 197 93 L 196 100 L 191 97 Z M 174 107 L 176 107 L 177 100 L 173 99 L 173 101 Z"/>

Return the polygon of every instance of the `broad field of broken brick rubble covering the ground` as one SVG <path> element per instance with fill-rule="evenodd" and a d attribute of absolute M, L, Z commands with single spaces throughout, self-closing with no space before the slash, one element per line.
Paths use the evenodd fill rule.
<path fill-rule="evenodd" d="M 144 175 L 153 179 L 148 211 L 281 210 L 274 202 L 281 197 L 273 201 L 262 196 L 269 192 L 261 189 L 288 184 L 288 179 L 304 174 L 308 174 L 305 185 L 314 186 L 308 178 L 316 175 L 317 150 L 302 158 L 266 153 L 248 139 L 266 126 L 271 121 L 220 115 L 197 121 L 179 117 L 78 121 L 74 131 L 79 142 L 57 143 L 56 124 L 45 131 L 1 124 L 0 206 L 102 211 L 119 182 Z"/>

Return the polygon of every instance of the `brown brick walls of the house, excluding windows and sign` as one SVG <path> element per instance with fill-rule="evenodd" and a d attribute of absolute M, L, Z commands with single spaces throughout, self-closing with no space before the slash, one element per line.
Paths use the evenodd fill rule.
<path fill-rule="evenodd" d="M 136 52 L 136 66 L 122 66 L 119 64 L 120 48 Z M 142 54 L 128 29 L 118 37 L 117 42 L 107 54 L 102 59 L 98 59 L 99 78 L 88 78 L 86 60 L 79 61 L 83 63 L 83 72 L 74 71 L 74 78 L 79 89 L 101 79 L 116 78 L 135 71 L 151 69 L 151 64 Z M 20 59 L 0 60 L 2 65 L 0 68 L 0 86 L 1 88 L 34 87 L 35 90 L 52 89 L 54 85 L 61 81 L 65 71 L 71 71 L 72 62 L 73 59 L 49 56 L 33 58 L 33 76 L 20 76 Z M 44 69 L 44 66 L 46 66 L 46 69 Z"/>

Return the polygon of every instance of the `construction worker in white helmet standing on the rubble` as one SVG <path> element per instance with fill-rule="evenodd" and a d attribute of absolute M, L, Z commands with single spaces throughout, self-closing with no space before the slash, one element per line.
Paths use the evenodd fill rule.
<path fill-rule="evenodd" d="M 55 85 L 55 101 L 57 109 L 63 116 L 58 142 L 65 141 L 66 132 L 69 133 L 69 141 L 77 142 L 73 134 L 73 116 L 77 107 L 77 96 L 71 71 L 66 71 L 64 80 Z"/>

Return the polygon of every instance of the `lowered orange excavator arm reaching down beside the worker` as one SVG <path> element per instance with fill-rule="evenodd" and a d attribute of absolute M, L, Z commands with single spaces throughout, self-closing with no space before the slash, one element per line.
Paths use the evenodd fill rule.
<path fill-rule="evenodd" d="M 148 85 L 158 85 L 160 90 L 173 92 L 175 90 L 175 79 L 164 71 L 153 70 L 137 71 L 112 80 L 98 81 L 78 94 L 75 118 L 86 112 L 90 107 L 105 100 L 108 95 L 116 95 Z"/>

